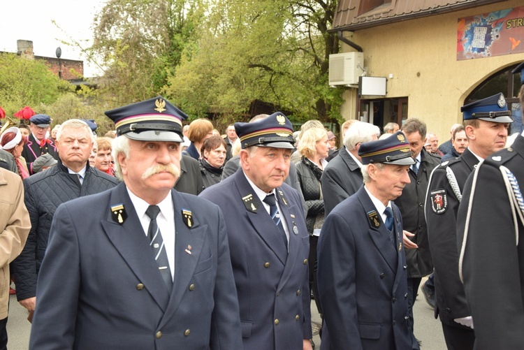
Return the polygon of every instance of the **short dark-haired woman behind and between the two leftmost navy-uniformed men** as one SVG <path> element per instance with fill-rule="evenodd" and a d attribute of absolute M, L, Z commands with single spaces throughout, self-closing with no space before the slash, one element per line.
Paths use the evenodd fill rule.
<path fill-rule="evenodd" d="M 201 148 L 200 165 L 204 189 L 218 184 L 222 180 L 222 170 L 226 161 L 226 141 L 220 136 L 211 136 L 204 140 Z"/>

